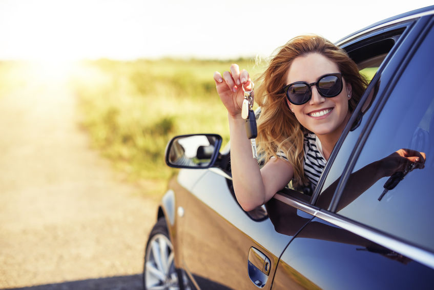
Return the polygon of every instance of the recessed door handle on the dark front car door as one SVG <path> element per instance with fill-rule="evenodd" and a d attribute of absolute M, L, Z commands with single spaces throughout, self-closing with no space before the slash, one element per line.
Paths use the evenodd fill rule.
<path fill-rule="evenodd" d="M 260 250 L 251 247 L 249 250 L 249 278 L 257 287 L 262 288 L 267 282 L 270 274 L 270 259 L 268 259 Z"/>

